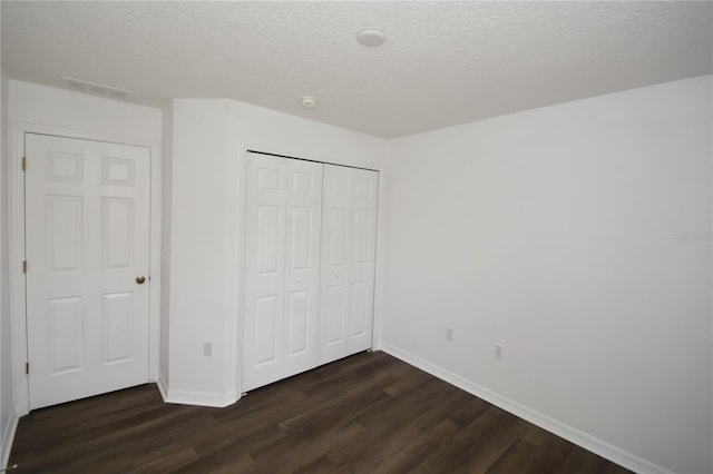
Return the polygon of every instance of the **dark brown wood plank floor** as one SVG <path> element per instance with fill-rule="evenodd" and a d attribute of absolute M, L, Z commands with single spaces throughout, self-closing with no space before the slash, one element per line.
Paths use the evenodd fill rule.
<path fill-rule="evenodd" d="M 384 353 L 169 405 L 144 385 L 20 419 L 13 473 L 626 473 Z"/>

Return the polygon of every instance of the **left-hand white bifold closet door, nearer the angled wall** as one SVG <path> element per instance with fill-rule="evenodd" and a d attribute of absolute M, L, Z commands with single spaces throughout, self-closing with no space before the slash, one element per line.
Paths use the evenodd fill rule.
<path fill-rule="evenodd" d="M 322 165 L 248 154 L 243 389 L 318 365 Z"/>

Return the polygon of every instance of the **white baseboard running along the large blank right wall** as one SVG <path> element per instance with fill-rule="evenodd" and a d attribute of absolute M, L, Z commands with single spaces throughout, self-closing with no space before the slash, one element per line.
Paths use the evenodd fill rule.
<path fill-rule="evenodd" d="M 477 396 L 478 398 L 482 398 L 486 402 L 505 409 L 506 412 L 519 416 L 520 418 L 526 419 L 527 422 L 533 423 L 540 428 L 547 429 L 548 432 L 554 433 L 557 436 L 560 436 L 578 446 L 582 446 L 587 451 L 598 454 L 599 456 L 605 457 L 616 464 L 619 464 L 629 471 L 646 474 L 673 474 L 672 471 L 668 471 L 665 467 L 662 467 L 632 453 L 623 451 L 609 443 L 606 443 L 569 425 L 566 425 L 543 413 L 539 413 L 512 399 L 504 397 L 502 395 L 499 395 L 492 391 L 489 391 L 488 388 L 475 384 L 461 377 L 460 375 L 456 375 L 442 367 L 431 364 L 430 362 L 424 361 L 413 354 L 410 354 L 383 342 L 381 342 L 380 347 L 387 354 L 400 358 L 401 361 L 414 367 L 418 367 L 421 371 L 433 375 L 434 377 L 448 382 L 449 384 L 455 385 L 458 388 Z"/>

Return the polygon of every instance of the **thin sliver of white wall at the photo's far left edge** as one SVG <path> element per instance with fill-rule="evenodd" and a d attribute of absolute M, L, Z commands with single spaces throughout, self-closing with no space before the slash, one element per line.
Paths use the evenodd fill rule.
<path fill-rule="evenodd" d="M 17 427 L 14 384 L 12 381 L 12 345 L 10 338 L 10 286 L 8 265 L 8 76 L 1 71 L 0 95 L 0 468 L 10 457 Z"/>

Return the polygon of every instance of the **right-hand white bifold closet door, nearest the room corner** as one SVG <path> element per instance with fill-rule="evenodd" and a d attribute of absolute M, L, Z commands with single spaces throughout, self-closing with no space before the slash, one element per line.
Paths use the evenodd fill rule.
<path fill-rule="evenodd" d="M 371 348 L 377 171 L 324 165 L 320 364 Z"/>

